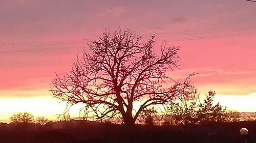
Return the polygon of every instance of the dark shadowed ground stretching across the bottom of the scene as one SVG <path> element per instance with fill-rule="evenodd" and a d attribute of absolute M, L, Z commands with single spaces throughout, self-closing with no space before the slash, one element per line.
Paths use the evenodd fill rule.
<path fill-rule="evenodd" d="M 240 135 L 246 127 L 248 136 Z M 200 126 L 140 126 L 88 121 L 51 122 L 46 125 L 0 124 L 0 142 L 256 142 L 256 122 L 238 122 Z"/>

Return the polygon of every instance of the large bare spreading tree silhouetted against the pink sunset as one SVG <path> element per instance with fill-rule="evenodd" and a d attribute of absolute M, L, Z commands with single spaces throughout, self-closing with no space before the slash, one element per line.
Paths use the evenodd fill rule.
<path fill-rule="evenodd" d="M 84 104 L 84 111 L 98 119 L 121 117 L 127 126 L 135 124 L 141 111 L 172 106 L 176 99 L 194 96 L 197 91 L 189 77 L 180 82 L 166 75 L 178 68 L 180 47 L 165 44 L 153 51 L 155 36 L 145 42 L 127 30 L 103 33 L 89 41 L 74 63 L 71 73 L 56 74 L 50 89 L 54 97 L 68 104 Z M 168 87 L 163 86 L 168 83 Z M 134 103 L 140 106 L 136 109 Z M 164 110 L 164 109 L 163 109 Z"/>

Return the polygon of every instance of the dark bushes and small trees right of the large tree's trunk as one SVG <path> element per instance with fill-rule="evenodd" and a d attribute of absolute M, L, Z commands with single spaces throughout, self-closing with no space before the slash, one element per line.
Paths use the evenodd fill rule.
<path fill-rule="evenodd" d="M 205 125 L 256 120 L 255 116 L 242 116 L 236 110 L 221 106 L 219 102 L 215 104 L 215 96 L 214 91 L 209 91 L 205 98 L 183 100 L 162 115 L 152 109 L 144 113 L 139 121 L 146 125 Z"/>

